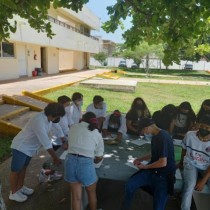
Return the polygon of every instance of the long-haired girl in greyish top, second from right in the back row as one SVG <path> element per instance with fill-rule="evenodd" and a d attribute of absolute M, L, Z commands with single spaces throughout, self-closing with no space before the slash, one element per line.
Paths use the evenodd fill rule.
<path fill-rule="evenodd" d="M 188 101 L 182 102 L 177 109 L 173 138 L 183 139 L 187 131 L 195 125 L 196 116 Z"/>

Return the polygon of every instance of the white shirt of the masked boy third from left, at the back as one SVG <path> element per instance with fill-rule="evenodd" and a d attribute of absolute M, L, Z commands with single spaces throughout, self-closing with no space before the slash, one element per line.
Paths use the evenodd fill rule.
<path fill-rule="evenodd" d="M 79 123 L 80 119 L 82 118 L 81 107 L 78 108 L 73 102 L 71 105 L 65 107 L 65 111 L 69 126 Z"/>

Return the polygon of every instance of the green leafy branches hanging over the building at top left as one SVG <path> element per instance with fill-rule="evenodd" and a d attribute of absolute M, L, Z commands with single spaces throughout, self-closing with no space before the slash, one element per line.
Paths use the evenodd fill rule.
<path fill-rule="evenodd" d="M 65 7 L 78 12 L 87 2 L 88 0 L 1 0 L 0 41 L 9 38 L 10 32 L 16 31 L 17 22 L 11 22 L 14 15 L 27 19 L 32 28 L 52 37 L 51 25 L 47 21 L 50 4 L 54 8 Z"/>

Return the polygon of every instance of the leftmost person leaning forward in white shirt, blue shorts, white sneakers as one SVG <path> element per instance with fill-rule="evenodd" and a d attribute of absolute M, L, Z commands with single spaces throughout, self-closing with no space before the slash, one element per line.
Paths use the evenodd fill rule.
<path fill-rule="evenodd" d="M 50 103 L 43 112 L 32 117 L 13 139 L 11 145 L 10 200 L 24 202 L 27 200 L 27 196 L 34 192 L 33 189 L 24 186 L 24 179 L 31 157 L 38 152 L 41 146 L 51 155 L 54 164 L 61 163 L 52 149 L 48 134 L 52 121 L 56 121 L 64 114 L 65 110 L 62 105 Z"/>

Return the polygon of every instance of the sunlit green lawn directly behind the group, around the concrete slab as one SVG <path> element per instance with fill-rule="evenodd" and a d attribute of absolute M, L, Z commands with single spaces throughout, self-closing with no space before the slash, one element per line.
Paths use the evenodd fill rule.
<path fill-rule="evenodd" d="M 94 95 L 101 95 L 107 103 L 108 112 L 119 109 L 126 113 L 135 97 L 142 97 L 153 113 L 166 104 L 179 105 L 183 101 L 189 101 L 197 113 L 203 100 L 210 98 L 210 87 L 176 84 L 138 83 L 135 93 L 115 92 L 110 90 L 82 87 L 79 84 L 67 87 L 45 95 L 45 97 L 57 100 L 61 95 L 70 96 L 74 92 L 81 92 L 84 96 L 83 111 L 92 103 Z"/>

